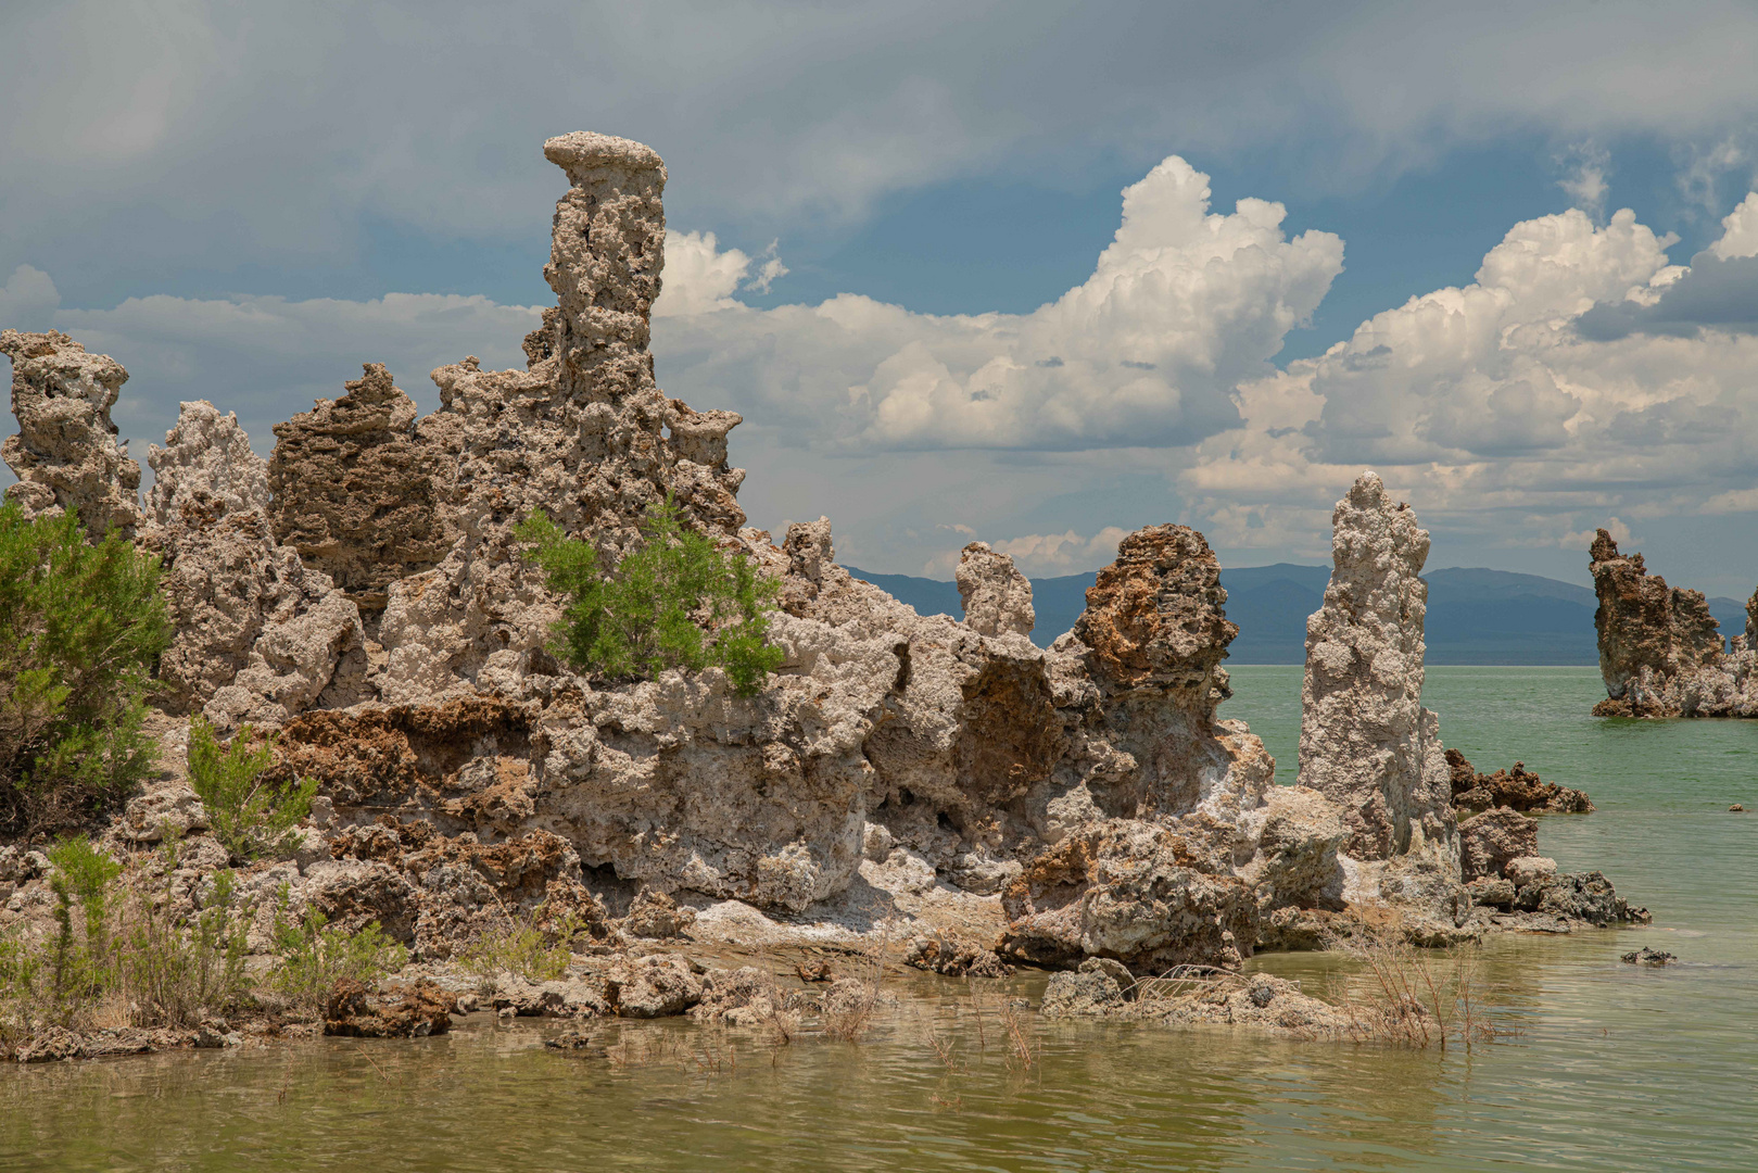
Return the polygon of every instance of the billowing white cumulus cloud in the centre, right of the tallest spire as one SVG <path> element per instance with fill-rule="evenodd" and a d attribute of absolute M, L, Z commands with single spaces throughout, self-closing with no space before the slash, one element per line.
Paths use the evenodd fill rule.
<path fill-rule="evenodd" d="M 1123 192 L 1122 227 L 1085 283 L 1027 315 L 974 317 L 853 294 L 752 310 L 731 299 L 751 260 L 689 236 L 656 339 L 673 385 L 733 389 L 803 443 L 1187 445 L 1238 424 L 1234 387 L 1271 369 L 1343 267 L 1341 239 L 1287 239 L 1283 216 L 1259 199 L 1210 211 L 1208 176 L 1171 157 Z"/>

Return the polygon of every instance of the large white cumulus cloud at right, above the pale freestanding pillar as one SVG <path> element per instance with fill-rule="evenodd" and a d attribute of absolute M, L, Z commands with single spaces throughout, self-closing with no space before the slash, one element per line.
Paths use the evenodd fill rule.
<path fill-rule="evenodd" d="M 1178 477 L 1192 517 L 1220 543 L 1275 547 L 1318 528 L 1366 466 L 1424 521 L 1503 545 L 1573 547 L 1614 510 L 1758 508 L 1754 301 L 1733 255 L 1747 208 L 1693 267 L 1630 209 L 1605 227 L 1580 209 L 1515 225 L 1473 285 L 1243 385 L 1245 426 Z"/>

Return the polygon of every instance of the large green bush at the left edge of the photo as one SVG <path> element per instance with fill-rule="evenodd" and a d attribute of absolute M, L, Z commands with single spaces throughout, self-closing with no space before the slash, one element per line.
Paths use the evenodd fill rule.
<path fill-rule="evenodd" d="M 0 506 L 0 832 L 79 823 L 148 774 L 144 696 L 171 635 L 156 557 Z"/>

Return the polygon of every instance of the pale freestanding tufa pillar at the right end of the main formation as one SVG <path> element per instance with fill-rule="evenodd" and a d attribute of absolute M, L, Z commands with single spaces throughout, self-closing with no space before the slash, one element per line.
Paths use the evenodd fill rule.
<path fill-rule="evenodd" d="M 1427 549 L 1410 506 L 1362 473 L 1333 514 L 1331 584 L 1306 621 L 1299 781 L 1345 809 L 1350 899 L 1457 885 L 1450 774 L 1422 707 Z"/>

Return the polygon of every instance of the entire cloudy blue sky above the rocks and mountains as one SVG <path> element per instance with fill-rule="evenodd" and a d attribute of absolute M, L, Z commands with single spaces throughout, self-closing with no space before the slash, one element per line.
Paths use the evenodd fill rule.
<path fill-rule="evenodd" d="M 0 327 L 271 427 L 522 366 L 545 137 L 666 160 L 656 371 L 756 526 L 949 579 L 1146 524 L 1758 582 L 1758 5 L 0 0 Z M 149 477 L 149 473 L 148 473 Z M 0 471 L 0 480 L 11 477 Z"/>

